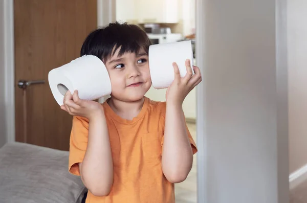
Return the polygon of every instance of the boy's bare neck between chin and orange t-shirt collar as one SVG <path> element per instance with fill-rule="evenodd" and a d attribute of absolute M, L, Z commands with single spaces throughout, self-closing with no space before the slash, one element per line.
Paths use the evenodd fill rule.
<path fill-rule="evenodd" d="M 139 115 L 144 104 L 144 98 L 134 102 L 126 102 L 111 97 L 107 103 L 121 118 L 133 120 Z"/>

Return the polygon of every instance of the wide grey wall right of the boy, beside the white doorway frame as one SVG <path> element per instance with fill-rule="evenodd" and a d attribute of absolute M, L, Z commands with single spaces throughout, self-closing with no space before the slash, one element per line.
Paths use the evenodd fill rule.
<path fill-rule="evenodd" d="M 286 1 L 198 2 L 206 202 L 289 202 Z"/>

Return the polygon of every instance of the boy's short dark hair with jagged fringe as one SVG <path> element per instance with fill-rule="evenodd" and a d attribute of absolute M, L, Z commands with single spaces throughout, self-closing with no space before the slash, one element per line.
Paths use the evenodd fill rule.
<path fill-rule="evenodd" d="M 118 48 L 119 56 L 127 52 L 137 54 L 142 48 L 148 54 L 150 44 L 150 39 L 141 28 L 116 21 L 90 33 L 83 42 L 80 55 L 94 55 L 105 62 Z"/>

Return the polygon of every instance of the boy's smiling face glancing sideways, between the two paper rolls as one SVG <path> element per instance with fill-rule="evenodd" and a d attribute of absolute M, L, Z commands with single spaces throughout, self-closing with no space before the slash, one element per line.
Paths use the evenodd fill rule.
<path fill-rule="evenodd" d="M 140 100 L 151 86 L 148 55 L 140 50 L 118 56 L 119 50 L 104 63 L 111 79 L 111 95 L 127 102 Z"/>

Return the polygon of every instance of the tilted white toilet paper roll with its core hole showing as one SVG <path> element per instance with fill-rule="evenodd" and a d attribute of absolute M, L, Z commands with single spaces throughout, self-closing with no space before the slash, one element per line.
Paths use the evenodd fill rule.
<path fill-rule="evenodd" d="M 96 56 L 84 55 L 53 69 L 48 74 L 51 92 L 63 105 L 65 93 L 78 90 L 84 100 L 96 100 L 112 92 L 111 81 L 103 62 Z"/>

